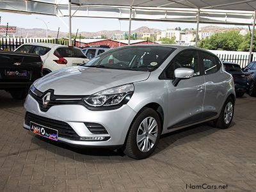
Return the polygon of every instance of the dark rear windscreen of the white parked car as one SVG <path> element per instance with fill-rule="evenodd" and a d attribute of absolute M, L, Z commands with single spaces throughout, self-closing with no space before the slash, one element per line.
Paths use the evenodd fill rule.
<path fill-rule="evenodd" d="M 56 49 L 55 54 L 61 58 L 86 58 L 80 49 L 73 47 L 61 47 Z"/>

